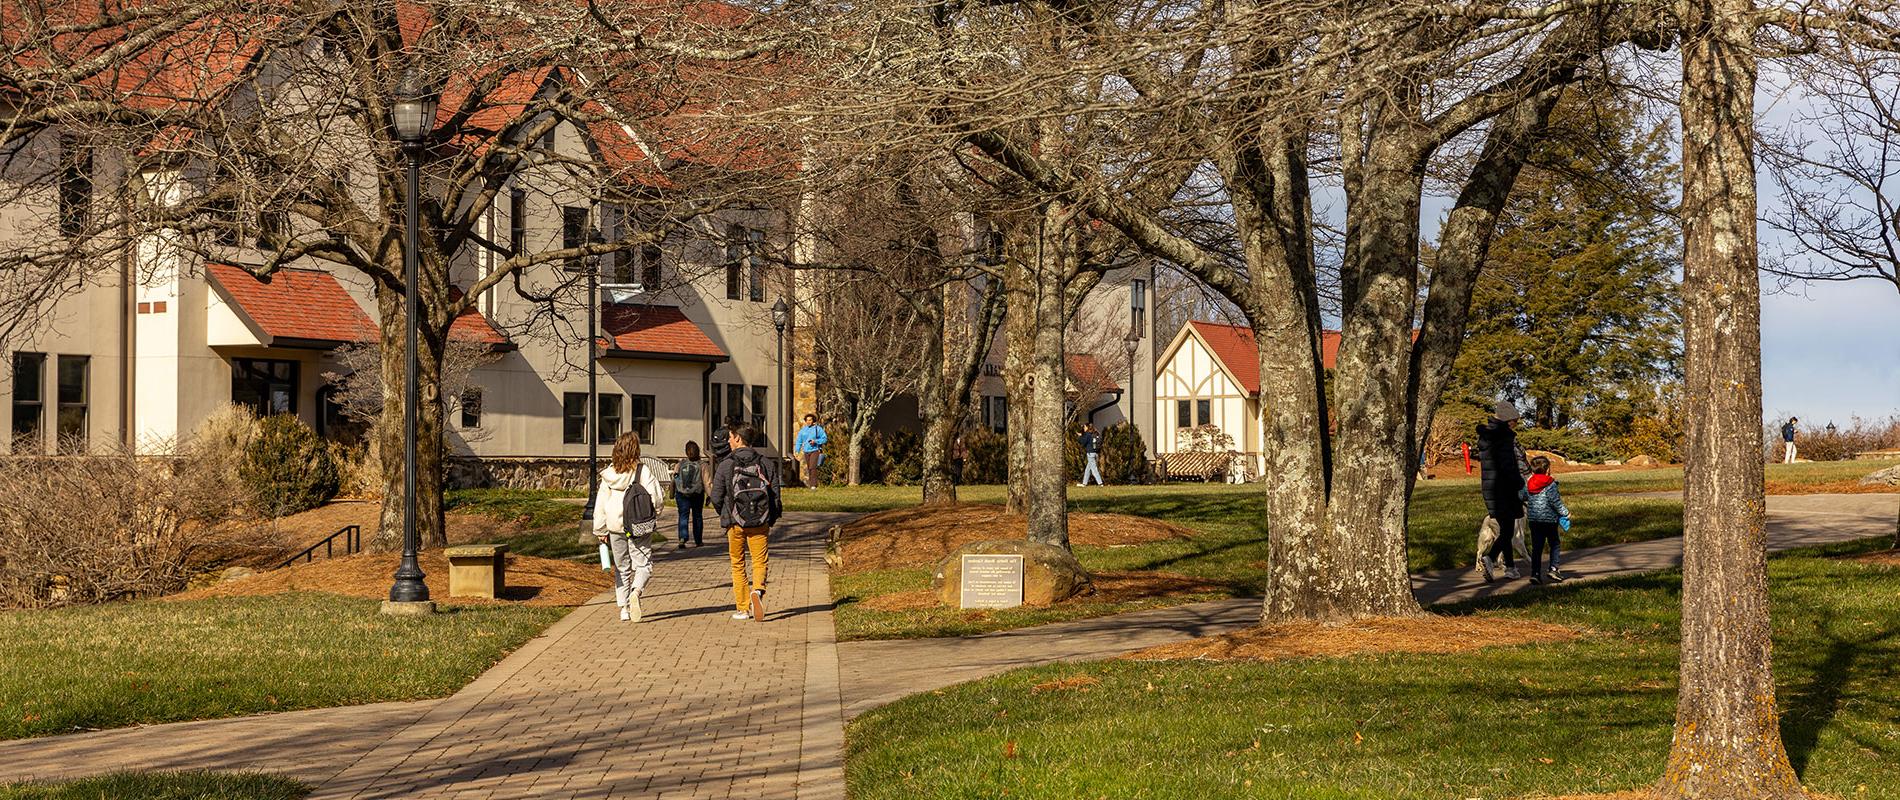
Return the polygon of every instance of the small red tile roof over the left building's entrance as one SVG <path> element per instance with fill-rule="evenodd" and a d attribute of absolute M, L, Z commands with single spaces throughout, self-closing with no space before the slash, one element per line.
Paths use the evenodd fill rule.
<path fill-rule="evenodd" d="M 205 264 L 211 281 L 266 336 L 266 346 L 369 342 L 376 323 L 319 270 L 277 270 L 256 277 L 238 266 Z"/>

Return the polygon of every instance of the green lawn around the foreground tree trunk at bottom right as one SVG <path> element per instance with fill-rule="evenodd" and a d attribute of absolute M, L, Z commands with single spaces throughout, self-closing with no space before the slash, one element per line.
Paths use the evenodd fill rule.
<path fill-rule="evenodd" d="M 1771 562 L 1790 756 L 1900 798 L 1900 570 Z M 1490 602 L 1566 644 L 1279 663 L 1051 665 L 906 697 L 847 730 L 855 800 L 1512 798 L 1653 781 L 1676 697 L 1676 574 Z M 1034 692 L 1089 675 L 1089 692 Z"/>

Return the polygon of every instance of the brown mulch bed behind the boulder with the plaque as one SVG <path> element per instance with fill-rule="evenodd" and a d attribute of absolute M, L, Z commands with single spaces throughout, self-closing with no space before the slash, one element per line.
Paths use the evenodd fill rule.
<path fill-rule="evenodd" d="M 961 545 L 984 540 L 1020 540 L 1028 521 L 1001 505 L 920 505 L 859 517 L 844 526 L 838 545 L 840 572 L 931 566 Z M 1193 532 L 1121 513 L 1072 513 L 1070 543 L 1091 547 L 1138 545 L 1186 540 Z"/>

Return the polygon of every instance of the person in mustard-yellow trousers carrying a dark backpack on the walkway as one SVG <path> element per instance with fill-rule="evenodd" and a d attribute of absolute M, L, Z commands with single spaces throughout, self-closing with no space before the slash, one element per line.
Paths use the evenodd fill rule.
<path fill-rule="evenodd" d="M 712 507 L 726 528 L 726 547 L 732 557 L 733 619 L 766 619 L 766 534 L 779 521 L 779 462 L 766 458 L 754 443 L 752 426 L 735 426 L 728 435 L 726 460 L 712 473 Z M 747 553 L 752 572 L 747 576 Z"/>

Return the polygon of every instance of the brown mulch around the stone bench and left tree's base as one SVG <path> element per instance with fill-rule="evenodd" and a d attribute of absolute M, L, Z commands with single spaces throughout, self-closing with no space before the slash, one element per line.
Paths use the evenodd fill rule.
<path fill-rule="evenodd" d="M 327 591 L 332 595 L 388 599 L 397 561 L 401 561 L 399 553 L 359 553 L 258 572 L 249 578 L 165 599 L 196 600 L 203 597 L 279 595 L 285 591 Z M 448 597 L 448 557 L 439 549 L 431 549 L 424 551 L 420 561 L 426 574 L 424 583 L 429 585 L 429 597 L 448 604 L 524 602 L 530 606 L 580 606 L 614 587 L 614 580 L 595 564 L 509 555 L 507 589 L 502 599 Z"/>

